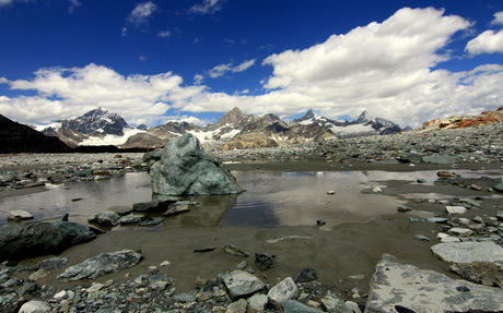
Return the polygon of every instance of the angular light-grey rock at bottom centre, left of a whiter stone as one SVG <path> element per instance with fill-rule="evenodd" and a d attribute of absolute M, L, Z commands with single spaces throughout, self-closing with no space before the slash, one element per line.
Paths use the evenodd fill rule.
<path fill-rule="evenodd" d="M 256 276 L 238 269 L 222 275 L 222 280 L 232 299 L 249 297 L 266 288 L 266 284 Z"/>

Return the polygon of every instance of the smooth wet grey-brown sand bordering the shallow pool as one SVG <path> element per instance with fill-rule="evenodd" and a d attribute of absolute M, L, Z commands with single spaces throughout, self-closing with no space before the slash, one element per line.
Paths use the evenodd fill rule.
<path fill-rule="evenodd" d="M 346 166 L 346 165 L 344 165 Z M 289 161 L 289 162 L 245 162 L 229 164 L 232 170 L 249 171 L 260 168 L 261 170 L 284 171 L 334 171 L 337 170 L 326 161 Z M 417 166 L 409 165 L 353 165 L 351 170 L 453 170 L 449 166 Z M 500 165 L 461 165 L 458 168 L 484 168 L 493 169 L 494 173 L 502 173 Z M 350 168 L 344 168 L 350 170 Z M 455 170 L 454 170 L 455 171 Z M 315 268 L 319 281 L 327 285 L 336 285 L 341 290 L 359 287 L 362 293 L 369 291 L 369 282 L 374 272 L 374 266 L 381 255 L 389 253 L 400 261 L 417 265 L 422 268 L 434 269 L 453 276 L 445 267 L 446 264 L 433 256 L 430 248 L 437 243 L 435 239 L 440 226 L 428 221 L 410 222 L 409 217 L 430 217 L 443 214 L 445 206 L 440 204 L 421 203 L 412 201 L 413 197 L 434 197 L 435 195 L 452 198 L 453 196 L 483 195 L 491 196 L 488 192 L 477 192 L 453 185 L 417 184 L 410 181 L 382 181 L 385 188 L 384 195 L 396 195 L 403 200 L 407 206 L 412 208 L 410 213 L 394 213 L 381 215 L 370 222 L 346 222 L 334 227 L 316 226 L 282 226 L 274 229 L 262 229 L 235 226 L 212 227 L 175 227 L 145 229 L 122 229 L 109 231 L 90 243 L 73 246 L 60 256 L 69 257 L 69 265 L 78 264 L 85 258 L 95 256 L 102 252 L 121 249 L 141 250 L 144 260 L 137 266 L 117 274 L 106 275 L 93 281 L 104 282 L 108 279 L 116 281 L 125 280 L 125 274 L 131 277 L 148 273 L 149 266 L 159 266 L 163 261 L 169 261 L 171 265 L 161 268 L 161 273 L 175 277 L 175 287 L 179 291 L 194 289 L 197 277 L 211 279 L 220 273 L 230 272 L 244 258 L 224 253 L 220 246 L 234 244 L 252 254 L 246 258 L 247 268 L 252 267 L 261 275 L 265 281 L 276 284 L 277 279 L 291 276 L 296 277 L 303 267 Z M 372 191 L 363 191 L 372 192 Z M 336 197 L 337 198 L 337 197 Z M 501 209 L 501 198 L 487 198 L 482 208 L 469 212 L 464 217 L 475 215 L 492 215 Z M 369 207 L 372 209 L 372 207 Z M 414 234 L 424 234 L 431 239 L 423 242 L 413 239 Z M 268 242 L 271 239 L 283 237 L 302 237 L 302 239 L 286 238 L 276 243 Z M 218 248 L 212 252 L 196 253 L 197 249 Z M 255 252 L 277 255 L 278 266 L 260 273 L 254 265 Z M 45 257 L 24 260 L 21 264 L 36 264 Z M 62 289 L 70 286 L 91 284 L 92 281 L 60 282 L 55 278 L 62 270 L 55 272 L 47 278 L 40 279 L 40 285 L 57 286 Z M 352 275 L 364 275 L 363 280 L 349 279 Z"/>

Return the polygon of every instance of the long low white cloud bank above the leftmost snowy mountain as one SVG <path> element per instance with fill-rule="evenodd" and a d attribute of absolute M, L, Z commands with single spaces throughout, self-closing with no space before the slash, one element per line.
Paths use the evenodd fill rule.
<path fill-rule="evenodd" d="M 124 76 L 106 67 L 50 68 L 34 73 L 33 80 L 7 81 L 11 89 L 36 91 L 32 97 L 0 98 L 0 111 L 27 123 L 49 123 L 80 116 L 96 107 L 120 112 L 126 120 L 139 117 L 159 120 L 171 107 L 183 107 L 201 94 L 203 86 L 182 86 L 171 72 Z"/>

